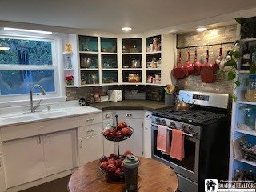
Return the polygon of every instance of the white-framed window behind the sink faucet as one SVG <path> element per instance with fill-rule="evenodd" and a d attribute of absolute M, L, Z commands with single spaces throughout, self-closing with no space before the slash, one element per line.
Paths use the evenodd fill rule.
<path fill-rule="evenodd" d="M 61 96 L 56 43 L 52 37 L 0 36 L 0 45 L 10 47 L 0 50 L 0 103 L 29 100 L 34 84 L 46 90 L 46 98 Z"/>

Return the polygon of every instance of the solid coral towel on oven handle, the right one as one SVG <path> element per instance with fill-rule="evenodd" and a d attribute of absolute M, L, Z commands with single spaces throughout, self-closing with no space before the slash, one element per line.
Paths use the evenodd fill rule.
<path fill-rule="evenodd" d="M 182 130 L 173 129 L 170 146 L 170 157 L 182 161 L 185 157 L 184 134 Z"/>

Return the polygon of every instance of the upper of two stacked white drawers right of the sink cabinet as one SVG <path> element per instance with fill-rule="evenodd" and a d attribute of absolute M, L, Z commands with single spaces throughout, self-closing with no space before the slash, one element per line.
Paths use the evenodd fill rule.
<path fill-rule="evenodd" d="M 88 126 L 102 122 L 102 113 L 78 116 L 78 126 Z"/>

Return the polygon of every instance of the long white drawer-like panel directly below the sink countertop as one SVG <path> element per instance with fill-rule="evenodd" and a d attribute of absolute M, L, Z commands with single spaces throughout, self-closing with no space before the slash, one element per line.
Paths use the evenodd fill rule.
<path fill-rule="evenodd" d="M 78 127 L 78 118 L 59 118 L 49 121 L 33 122 L 19 126 L 6 126 L 0 129 L 2 142 L 17 138 L 26 138 L 39 134 L 47 134 L 59 130 Z"/>

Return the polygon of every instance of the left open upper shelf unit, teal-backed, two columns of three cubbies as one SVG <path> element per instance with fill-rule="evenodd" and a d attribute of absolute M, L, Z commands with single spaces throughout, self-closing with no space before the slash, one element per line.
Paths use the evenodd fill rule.
<path fill-rule="evenodd" d="M 117 38 L 78 35 L 80 84 L 118 84 Z"/>

